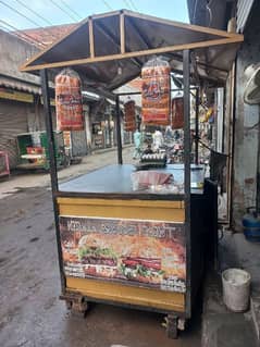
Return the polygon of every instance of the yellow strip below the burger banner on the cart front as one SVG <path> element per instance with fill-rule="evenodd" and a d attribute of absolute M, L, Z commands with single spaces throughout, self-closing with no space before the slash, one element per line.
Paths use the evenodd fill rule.
<path fill-rule="evenodd" d="M 95 299 L 177 312 L 185 311 L 185 295 L 182 293 L 132 287 L 117 283 L 76 277 L 66 277 L 66 288 Z"/>

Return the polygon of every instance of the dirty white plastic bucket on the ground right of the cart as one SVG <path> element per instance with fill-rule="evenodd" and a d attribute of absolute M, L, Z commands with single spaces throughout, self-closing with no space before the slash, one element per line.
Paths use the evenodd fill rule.
<path fill-rule="evenodd" d="M 223 300 L 234 312 L 244 312 L 248 308 L 250 274 L 240 269 L 227 269 L 222 273 Z"/>

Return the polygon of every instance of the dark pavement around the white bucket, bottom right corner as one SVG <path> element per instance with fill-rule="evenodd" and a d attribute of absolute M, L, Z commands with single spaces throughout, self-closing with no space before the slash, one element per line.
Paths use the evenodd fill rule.
<path fill-rule="evenodd" d="M 260 302 L 259 246 L 248 243 L 244 234 L 233 234 L 228 231 L 223 233 L 223 238 L 219 243 L 219 272 L 209 273 L 205 284 L 202 347 L 260 346 L 256 334 L 259 317 L 253 318 L 253 311 L 259 314 Z M 223 302 L 221 273 L 228 268 L 244 268 L 251 274 L 253 300 L 246 312 L 232 312 Z"/>

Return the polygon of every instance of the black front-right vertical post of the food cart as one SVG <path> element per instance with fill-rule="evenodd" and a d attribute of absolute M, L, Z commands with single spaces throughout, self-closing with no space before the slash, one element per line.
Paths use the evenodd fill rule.
<path fill-rule="evenodd" d="M 184 79 L 184 200 L 185 200 L 185 236 L 186 236 L 186 314 L 191 314 L 191 239 L 190 239 L 190 97 L 189 72 L 190 52 L 183 51 Z"/>

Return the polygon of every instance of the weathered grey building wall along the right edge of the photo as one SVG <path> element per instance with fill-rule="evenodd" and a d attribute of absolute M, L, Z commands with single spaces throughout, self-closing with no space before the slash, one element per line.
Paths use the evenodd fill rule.
<path fill-rule="evenodd" d="M 256 1 L 250 21 L 245 28 L 245 41 L 238 52 L 236 66 L 234 172 L 233 172 L 233 226 L 242 230 L 245 209 L 256 205 L 256 171 L 258 148 L 259 106 L 244 103 L 247 78 L 245 69 L 260 62 L 260 2 Z"/>

